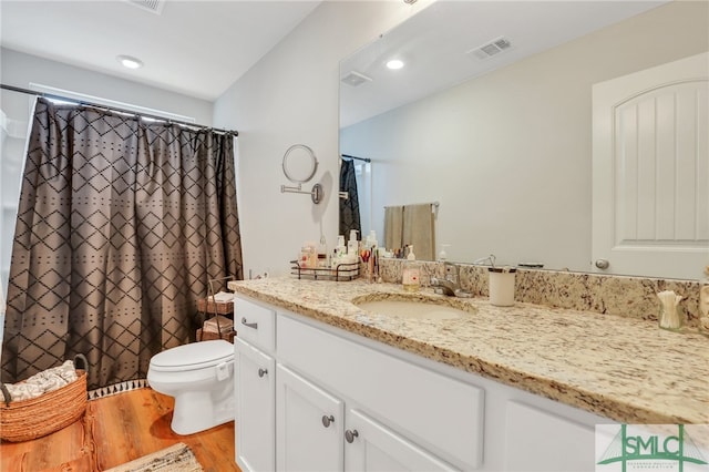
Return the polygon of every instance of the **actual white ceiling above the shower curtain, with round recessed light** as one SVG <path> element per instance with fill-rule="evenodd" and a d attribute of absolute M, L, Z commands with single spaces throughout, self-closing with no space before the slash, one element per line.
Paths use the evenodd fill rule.
<path fill-rule="evenodd" d="M 127 0 L 0 0 L 0 44 L 214 101 L 319 3 L 167 0 L 158 14 Z"/>

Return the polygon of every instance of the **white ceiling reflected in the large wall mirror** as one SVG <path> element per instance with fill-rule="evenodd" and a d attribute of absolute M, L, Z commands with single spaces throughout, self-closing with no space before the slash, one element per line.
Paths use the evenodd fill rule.
<path fill-rule="evenodd" d="M 340 76 L 371 79 L 340 85 L 345 127 L 474 76 L 572 41 L 668 0 L 436 1 L 343 60 Z M 504 37 L 505 52 L 480 60 L 472 50 Z M 407 65 L 387 70 L 401 58 Z"/>

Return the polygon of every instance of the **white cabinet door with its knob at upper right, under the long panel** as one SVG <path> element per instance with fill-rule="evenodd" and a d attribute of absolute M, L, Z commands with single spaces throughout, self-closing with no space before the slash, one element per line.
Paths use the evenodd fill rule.
<path fill-rule="evenodd" d="M 279 471 L 341 471 L 345 407 L 287 367 L 276 367 Z"/>

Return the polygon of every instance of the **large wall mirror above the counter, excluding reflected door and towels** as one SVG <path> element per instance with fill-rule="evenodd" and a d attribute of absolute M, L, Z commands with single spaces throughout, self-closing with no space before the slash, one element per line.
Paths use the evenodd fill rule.
<path fill-rule="evenodd" d="M 706 52 L 708 8 L 436 1 L 343 59 L 340 153 L 371 158 L 362 234 L 386 206 L 439 202 L 449 260 L 614 273 L 592 256 L 593 86 Z"/>

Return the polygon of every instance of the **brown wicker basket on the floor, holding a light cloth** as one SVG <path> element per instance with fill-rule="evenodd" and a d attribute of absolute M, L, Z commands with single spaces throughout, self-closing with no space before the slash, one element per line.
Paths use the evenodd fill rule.
<path fill-rule="evenodd" d="M 0 438 L 20 442 L 59 431 L 86 410 L 86 371 L 76 369 L 73 382 L 38 398 L 0 404 Z"/>

